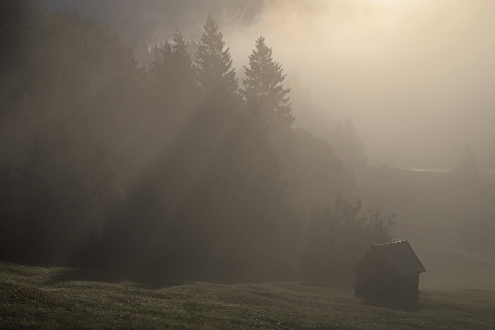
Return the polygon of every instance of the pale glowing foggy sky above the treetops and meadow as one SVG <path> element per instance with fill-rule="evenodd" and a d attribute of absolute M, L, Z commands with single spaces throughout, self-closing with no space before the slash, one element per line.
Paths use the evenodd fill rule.
<path fill-rule="evenodd" d="M 324 136 L 350 117 L 371 165 L 451 170 L 470 142 L 480 168 L 495 168 L 490 1 L 45 2 L 148 46 L 175 29 L 198 41 L 210 12 L 240 77 L 260 35 L 289 78 L 297 70 L 293 92 L 307 88 L 314 108 L 294 99 L 296 127 Z"/>

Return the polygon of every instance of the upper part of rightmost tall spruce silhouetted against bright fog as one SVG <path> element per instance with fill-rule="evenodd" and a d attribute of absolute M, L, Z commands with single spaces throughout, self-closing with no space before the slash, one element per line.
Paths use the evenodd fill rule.
<path fill-rule="evenodd" d="M 272 48 L 265 45 L 265 38 L 256 40 L 256 49 L 249 55 L 249 68 L 244 66 L 247 78 L 243 79 L 244 90 L 241 94 L 247 101 L 259 104 L 259 110 L 273 131 L 290 129 L 295 117 L 291 103 L 286 95 L 291 91 L 284 89 L 285 74 L 282 67 L 272 57 Z"/>

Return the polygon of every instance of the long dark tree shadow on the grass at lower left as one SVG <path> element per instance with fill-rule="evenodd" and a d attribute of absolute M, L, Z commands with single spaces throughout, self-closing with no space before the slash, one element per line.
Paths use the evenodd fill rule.
<path fill-rule="evenodd" d="M 107 271 L 69 268 L 57 271 L 46 284 L 62 282 L 102 282 L 102 283 L 129 283 L 131 286 L 158 289 L 167 286 L 187 284 L 188 281 L 171 279 L 164 276 L 148 276 L 137 274 L 121 274 Z"/>

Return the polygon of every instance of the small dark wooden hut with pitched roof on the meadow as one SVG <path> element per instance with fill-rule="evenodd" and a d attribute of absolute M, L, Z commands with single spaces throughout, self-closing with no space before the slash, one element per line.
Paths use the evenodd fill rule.
<path fill-rule="evenodd" d="M 354 296 L 417 299 L 419 274 L 426 269 L 407 240 L 375 244 L 357 265 Z"/>

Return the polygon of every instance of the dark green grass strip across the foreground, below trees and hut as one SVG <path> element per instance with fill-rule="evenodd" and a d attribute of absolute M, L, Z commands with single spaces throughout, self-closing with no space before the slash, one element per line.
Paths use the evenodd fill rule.
<path fill-rule="evenodd" d="M 0 263 L 0 329 L 495 329 L 495 292 L 417 303 L 298 283 L 214 284 Z"/>

